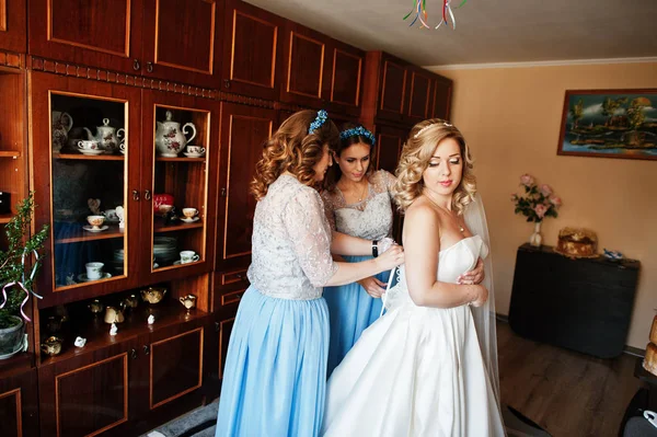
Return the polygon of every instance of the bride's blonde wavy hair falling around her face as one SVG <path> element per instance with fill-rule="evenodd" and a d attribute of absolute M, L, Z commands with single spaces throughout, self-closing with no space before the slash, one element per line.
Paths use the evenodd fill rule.
<path fill-rule="evenodd" d="M 413 126 L 402 149 L 396 169 L 394 200 L 403 212 L 422 195 L 423 174 L 440 141 L 453 138 L 459 143 L 463 162 L 463 173 L 452 196 L 452 210 L 463 215 L 468 204 L 474 200 L 476 179 L 472 173 L 473 160 L 465 139 L 459 129 L 440 118 L 430 118 Z"/>

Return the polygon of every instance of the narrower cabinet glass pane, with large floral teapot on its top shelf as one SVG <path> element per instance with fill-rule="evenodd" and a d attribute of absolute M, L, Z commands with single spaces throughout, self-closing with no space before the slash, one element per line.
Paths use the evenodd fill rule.
<path fill-rule="evenodd" d="M 155 106 L 153 269 L 205 261 L 209 113 Z"/>

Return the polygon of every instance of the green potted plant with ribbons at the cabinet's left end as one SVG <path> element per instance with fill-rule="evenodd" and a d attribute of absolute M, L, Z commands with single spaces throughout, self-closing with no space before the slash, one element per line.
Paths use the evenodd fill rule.
<path fill-rule="evenodd" d="M 30 235 L 32 214 L 34 211 L 34 193 L 18 205 L 18 212 L 4 226 L 7 233 L 7 251 L 0 250 L 0 359 L 9 358 L 23 345 L 25 322 L 30 318 L 23 306 L 30 298 L 41 260 L 32 260 L 31 272 L 26 272 L 26 263 L 32 254 L 37 254 L 48 238 L 48 227 Z M 36 295 L 35 295 L 36 296 Z"/>

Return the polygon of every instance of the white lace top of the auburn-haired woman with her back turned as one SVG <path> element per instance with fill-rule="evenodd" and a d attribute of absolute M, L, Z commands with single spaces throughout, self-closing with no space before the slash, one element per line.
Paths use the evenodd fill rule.
<path fill-rule="evenodd" d="M 320 194 L 293 176 L 279 176 L 255 207 L 252 251 L 247 276 L 260 292 L 281 299 L 321 297 L 338 267 Z"/>

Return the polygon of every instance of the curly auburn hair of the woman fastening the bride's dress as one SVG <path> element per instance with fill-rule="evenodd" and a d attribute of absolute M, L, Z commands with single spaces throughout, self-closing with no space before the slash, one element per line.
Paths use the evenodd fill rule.
<path fill-rule="evenodd" d="M 251 193 L 256 200 L 265 197 L 269 185 L 286 171 L 304 185 L 316 185 L 313 166 L 322 159 L 324 145 L 335 150 L 339 143 L 339 131 L 328 118 L 311 134 L 308 133 L 316 116 L 316 111 L 299 111 L 283 122 L 272 138 L 264 142 L 263 157 L 255 165 L 255 177 L 251 182 Z"/>

